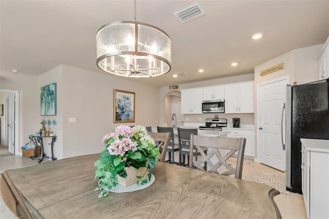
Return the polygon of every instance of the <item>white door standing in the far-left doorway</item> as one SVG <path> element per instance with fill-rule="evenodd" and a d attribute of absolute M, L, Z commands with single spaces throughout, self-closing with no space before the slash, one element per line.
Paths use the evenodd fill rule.
<path fill-rule="evenodd" d="M 15 153 L 15 94 L 8 99 L 8 150 Z"/>

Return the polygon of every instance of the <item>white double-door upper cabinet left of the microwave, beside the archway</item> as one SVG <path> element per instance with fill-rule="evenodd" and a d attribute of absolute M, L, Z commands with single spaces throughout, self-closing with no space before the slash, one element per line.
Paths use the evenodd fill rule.
<path fill-rule="evenodd" d="M 202 88 L 182 89 L 181 114 L 202 114 Z"/>

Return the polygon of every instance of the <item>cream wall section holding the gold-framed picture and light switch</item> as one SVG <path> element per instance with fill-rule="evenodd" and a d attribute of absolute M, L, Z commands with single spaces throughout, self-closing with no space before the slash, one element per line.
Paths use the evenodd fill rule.
<path fill-rule="evenodd" d="M 62 88 L 64 158 L 100 153 L 103 136 L 120 124 L 158 125 L 155 86 L 64 65 Z M 135 92 L 135 123 L 114 123 L 114 89 Z M 77 122 L 69 123 L 69 117 Z"/>

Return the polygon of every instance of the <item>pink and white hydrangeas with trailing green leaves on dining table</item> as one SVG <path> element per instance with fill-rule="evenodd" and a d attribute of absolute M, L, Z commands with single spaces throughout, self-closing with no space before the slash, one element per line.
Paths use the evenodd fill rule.
<path fill-rule="evenodd" d="M 119 178 L 127 177 L 127 168 L 144 168 L 142 175 L 136 175 L 136 183 L 143 185 L 150 181 L 149 170 L 155 168 L 159 149 L 154 139 L 144 126 L 130 127 L 119 125 L 113 133 L 103 137 L 105 150 L 95 162 L 95 179 L 99 178 L 95 190 L 100 190 L 98 197 L 107 196 L 109 190 L 119 184 Z"/>

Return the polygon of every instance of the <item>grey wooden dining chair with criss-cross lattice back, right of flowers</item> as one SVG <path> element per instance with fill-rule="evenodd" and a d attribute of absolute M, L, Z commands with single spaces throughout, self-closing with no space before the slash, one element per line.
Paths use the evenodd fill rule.
<path fill-rule="evenodd" d="M 234 174 L 235 178 L 241 179 L 242 177 L 242 167 L 243 167 L 243 158 L 245 153 L 246 139 L 245 138 L 223 138 L 223 137 L 210 137 L 210 136 L 200 136 L 193 135 L 190 136 L 190 160 L 189 167 L 195 166 L 197 169 L 202 171 L 208 171 L 213 173 L 222 174 L 225 176 Z M 202 158 L 199 158 L 196 161 L 193 161 L 193 147 L 200 150 L 200 147 L 207 147 L 207 154 L 200 150 Z M 224 153 L 226 149 L 227 154 Z M 237 160 L 235 169 L 229 165 L 226 161 L 237 151 Z M 218 161 L 215 161 L 213 156 L 216 156 Z M 210 158 L 212 160 L 210 161 Z M 207 162 L 203 167 L 202 163 Z M 213 163 L 214 162 L 214 163 Z M 218 172 L 218 168 L 221 166 L 226 168 L 226 172 Z M 209 170 L 207 170 L 208 167 Z"/>

